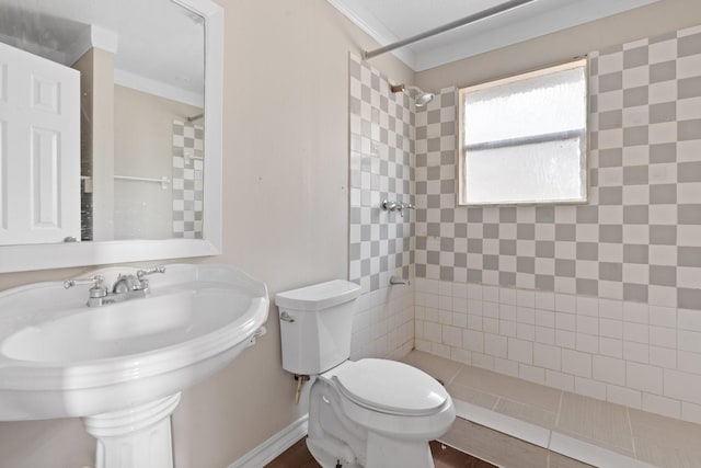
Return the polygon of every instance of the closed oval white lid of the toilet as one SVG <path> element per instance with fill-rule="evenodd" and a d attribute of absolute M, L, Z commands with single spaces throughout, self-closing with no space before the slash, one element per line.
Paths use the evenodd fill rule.
<path fill-rule="evenodd" d="M 390 414 L 432 414 L 448 398 L 435 378 L 395 361 L 360 359 L 342 369 L 334 379 L 356 403 Z"/>

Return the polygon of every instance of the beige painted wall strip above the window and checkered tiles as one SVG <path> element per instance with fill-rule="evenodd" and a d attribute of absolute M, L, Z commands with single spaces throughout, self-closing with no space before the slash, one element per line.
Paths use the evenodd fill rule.
<path fill-rule="evenodd" d="M 699 21 L 700 1 L 659 0 L 625 13 L 421 71 L 415 77 L 416 85 L 438 91 L 450 85 L 475 84 L 566 61 L 590 50 L 693 26 Z"/>

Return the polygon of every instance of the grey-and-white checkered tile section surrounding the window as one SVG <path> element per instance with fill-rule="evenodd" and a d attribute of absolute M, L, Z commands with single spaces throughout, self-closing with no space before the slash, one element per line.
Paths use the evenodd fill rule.
<path fill-rule="evenodd" d="M 701 309 L 701 26 L 589 55 L 589 203 L 456 208 L 456 92 L 416 116 L 416 275 Z"/>

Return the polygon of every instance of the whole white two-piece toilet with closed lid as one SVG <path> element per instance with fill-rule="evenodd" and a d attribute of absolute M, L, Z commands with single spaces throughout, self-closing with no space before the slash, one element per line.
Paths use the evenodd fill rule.
<path fill-rule="evenodd" d="M 307 446 L 324 468 L 434 467 L 428 442 L 452 425 L 452 400 L 410 365 L 349 361 L 359 295 L 335 279 L 275 296 L 283 367 L 313 381 Z"/>

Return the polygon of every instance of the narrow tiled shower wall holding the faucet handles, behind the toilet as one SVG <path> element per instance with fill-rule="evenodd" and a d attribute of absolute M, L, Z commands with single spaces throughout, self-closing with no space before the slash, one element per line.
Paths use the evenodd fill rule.
<path fill-rule="evenodd" d="M 413 286 L 390 286 L 391 275 L 410 277 L 414 213 L 383 212 L 383 199 L 414 203 L 414 111 L 393 94 L 389 80 L 350 55 L 349 274 L 361 286 L 353 320 L 350 356 L 394 357 L 414 346 Z"/>

